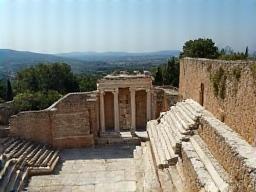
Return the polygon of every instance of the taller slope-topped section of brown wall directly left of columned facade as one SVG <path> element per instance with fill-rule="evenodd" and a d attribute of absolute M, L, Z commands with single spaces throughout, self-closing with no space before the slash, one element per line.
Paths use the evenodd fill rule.
<path fill-rule="evenodd" d="M 90 146 L 94 143 L 90 119 L 96 113 L 96 95 L 71 93 L 49 108 L 54 110 L 52 119 L 53 145 L 59 148 Z M 93 100 L 92 100 L 93 99 Z M 95 119 L 95 118 L 94 118 Z"/>

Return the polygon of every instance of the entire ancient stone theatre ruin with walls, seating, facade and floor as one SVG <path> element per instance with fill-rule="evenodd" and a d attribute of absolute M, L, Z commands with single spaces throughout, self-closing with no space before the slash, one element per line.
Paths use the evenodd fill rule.
<path fill-rule="evenodd" d="M 255 66 L 184 58 L 179 92 L 123 72 L 18 113 L 0 191 L 254 192 Z"/>

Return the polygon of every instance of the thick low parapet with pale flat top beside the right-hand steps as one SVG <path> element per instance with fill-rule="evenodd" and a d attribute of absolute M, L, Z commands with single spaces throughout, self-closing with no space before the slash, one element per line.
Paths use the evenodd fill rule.
<path fill-rule="evenodd" d="M 235 191 L 256 191 L 256 149 L 211 114 L 201 118 L 198 133 L 235 182 Z"/>

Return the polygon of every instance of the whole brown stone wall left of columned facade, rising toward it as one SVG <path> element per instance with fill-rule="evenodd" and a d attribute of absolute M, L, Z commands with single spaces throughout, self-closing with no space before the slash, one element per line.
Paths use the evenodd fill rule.
<path fill-rule="evenodd" d="M 57 148 L 92 146 L 98 130 L 96 98 L 95 92 L 70 93 L 48 109 L 18 113 L 10 120 L 11 135 Z"/>

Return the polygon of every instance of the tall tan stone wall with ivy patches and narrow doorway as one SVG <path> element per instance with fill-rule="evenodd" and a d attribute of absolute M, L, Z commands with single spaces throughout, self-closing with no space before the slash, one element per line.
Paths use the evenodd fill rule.
<path fill-rule="evenodd" d="M 179 93 L 256 144 L 256 62 L 184 58 Z"/>

